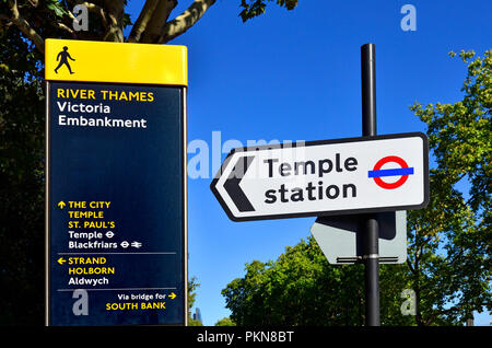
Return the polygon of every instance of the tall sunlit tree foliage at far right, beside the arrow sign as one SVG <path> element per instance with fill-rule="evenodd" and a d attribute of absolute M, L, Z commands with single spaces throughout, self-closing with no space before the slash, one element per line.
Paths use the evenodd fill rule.
<path fill-rule="evenodd" d="M 422 325 L 440 317 L 462 323 L 472 311 L 492 310 L 492 50 L 458 56 L 468 65 L 462 101 L 411 106 L 427 125 L 436 160 L 431 204 L 409 217 L 408 265 Z"/>

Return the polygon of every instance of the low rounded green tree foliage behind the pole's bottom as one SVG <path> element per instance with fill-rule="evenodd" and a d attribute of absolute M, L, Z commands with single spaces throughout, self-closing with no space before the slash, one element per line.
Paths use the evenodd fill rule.
<path fill-rule="evenodd" d="M 383 324 L 410 325 L 402 316 L 400 294 L 407 288 L 405 265 L 380 267 Z M 246 264 L 244 278 L 222 290 L 237 325 L 364 324 L 362 265 L 332 266 L 314 237 L 302 240 L 277 260 Z"/>

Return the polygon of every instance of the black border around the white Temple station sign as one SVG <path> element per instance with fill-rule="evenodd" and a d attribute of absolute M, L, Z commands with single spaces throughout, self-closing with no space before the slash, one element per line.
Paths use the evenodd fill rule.
<path fill-rule="evenodd" d="M 235 217 L 225 201 L 222 199 L 219 190 L 216 189 L 216 184 L 221 174 L 224 172 L 231 158 L 236 152 L 253 152 L 259 150 L 268 150 L 268 149 L 283 149 L 283 148 L 296 148 L 298 147 L 313 147 L 320 144 L 330 144 L 330 143 L 347 143 L 347 142 L 361 142 L 361 141 L 372 141 L 372 140 L 384 140 L 384 139 L 401 139 L 401 138 L 414 138 L 419 137 L 423 142 L 423 161 L 424 161 L 424 200 L 419 205 L 410 205 L 410 206 L 391 206 L 391 207 L 378 207 L 378 208 L 367 208 L 367 209 L 347 209 L 347 210 L 332 210 L 332 211 L 313 211 L 313 212 L 300 212 L 300 213 L 285 213 L 285 214 L 267 214 L 267 216 L 253 216 L 253 217 Z M 241 147 L 231 150 L 231 152 L 225 158 L 222 163 L 219 172 L 215 174 L 212 183 L 210 184 L 210 189 L 212 190 L 215 198 L 219 200 L 220 205 L 224 209 L 227 217 L 235 222 L 242 221 L 257 221 L 257 220 L 277 220 L 277 219 L 291 219 L 291 218 L 306 218 L 306 217 L 327 217 L 327 216 L 345 216 L 345 214 L 361 214 L 361 213 L 374 213 L 374 212 L 384 212 L 384 211 L 396 211 L 396 210 L 412 210 L 412 209 L 422 209 L 425 208 L 430 201 L 430 188 L 429 188 L 429 140 L 427 137 L 420 131 L 413 132 L 401 132 L 401 134 L 391 134 L 391 135 L 382 135 L 382 136 L 373 136 L 373 137 L 354 137 L 354 138 L 341 138 L 341 139 L 328 139 L 328 140 L 312 140 L 305 142 L 288 142 L 288 143 L 279 143 L 279 144 L 265 144 L 257 147 Z"/>

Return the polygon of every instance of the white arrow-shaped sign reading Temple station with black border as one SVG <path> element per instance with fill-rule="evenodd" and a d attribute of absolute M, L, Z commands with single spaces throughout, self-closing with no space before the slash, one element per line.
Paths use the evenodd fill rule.
<path fill-rule="evenodd" d="M 211 189 L 234 221 L 421 209 L 427 139 L 412 132 L 238 148 Z"/>

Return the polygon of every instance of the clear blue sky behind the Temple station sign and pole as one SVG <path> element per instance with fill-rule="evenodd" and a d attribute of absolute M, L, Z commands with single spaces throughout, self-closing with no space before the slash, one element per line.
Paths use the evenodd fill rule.
<path fill-rule="evenodd" d="M 173 15 L 190 2 L 180 0 Z M 425 131 L 410 105 L 461 96 L 465 65 L 447 54 L 491 48 L 489 0 L 300 0 L 294 11 L 274 2 L 243 24 L 239 0 L 219 0 L 171 43 L 188 46 L 188 142 L 209 147 L 209 177 L 188 179 L 189 275 L 201 285 L 196 306 L 206 325 L 230 315 L 221 290 L 244 276 L 246 263 L 276 259 L 309 235 L 315 220 L 229 220 L 209 187 L 212 152 L 218 162 L 226 155 L 212 149 L 213 131 L 220 146 L 361 136 L 360 46 L 370 42 L 376 45 L 378 134 Z M 132 21 L 142 3 L 129 1 Z M 414 32 L 400 28 L 406 3 L 417 9 Z M 477 315 L 476 324 L 491 320 Z"/>

